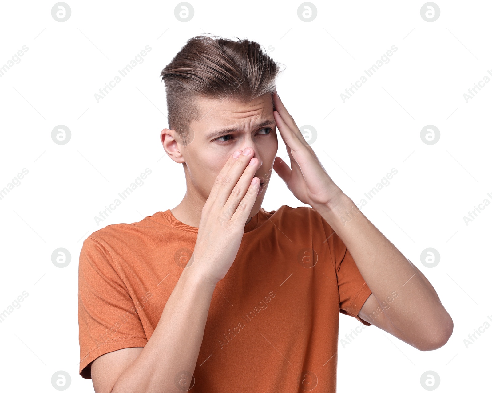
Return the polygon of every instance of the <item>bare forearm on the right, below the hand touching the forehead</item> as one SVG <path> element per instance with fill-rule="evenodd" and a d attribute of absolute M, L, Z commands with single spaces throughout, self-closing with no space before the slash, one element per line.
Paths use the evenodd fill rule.
<path fill-rule="evenodd" d="M 419 337 L 441 337 L 452 328 L 451 317 L 431 283 L 349 197 L 343 194 L 337 204 L 316 210 L 337 232 L 396 329 L 417 341 Z M 398 296 L 385 309 L 382 303 L 387 305 L 394 291 Z"/>

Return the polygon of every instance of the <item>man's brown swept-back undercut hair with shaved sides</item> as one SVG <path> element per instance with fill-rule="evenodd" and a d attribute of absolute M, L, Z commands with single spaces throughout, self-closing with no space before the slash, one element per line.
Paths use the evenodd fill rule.
<path fill-rule="evenodd" d="M 206 115 L 201 113 L 196 98 L 247 102 L 270 94 L 275 110 L 272 95 L 283 70 L 260 44 L 236 38 L 190 38 L 161 71 L 169 129 L 178 133 L 180 144 L 186 146 L 194 139 L 190 122 Z"/>

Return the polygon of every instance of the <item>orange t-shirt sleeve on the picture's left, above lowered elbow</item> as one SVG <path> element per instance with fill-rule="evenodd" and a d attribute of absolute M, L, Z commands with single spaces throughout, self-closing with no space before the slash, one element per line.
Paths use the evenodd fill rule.
<path fill-rule="evenodd" d="M 88 237 L 80 252 L 78 321 L 79 374 L 92 379 L 90 364 L 99 356 L 147 343 L 142 322 L 108 250 Z"/>

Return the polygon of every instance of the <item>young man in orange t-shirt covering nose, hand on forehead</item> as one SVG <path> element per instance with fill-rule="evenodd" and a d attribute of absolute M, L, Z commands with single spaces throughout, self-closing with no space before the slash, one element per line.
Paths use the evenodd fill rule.
<path fill-rule="evenodd" d="M 451 336 L 431 283 L 304 140 L 278 72 L 256 42 L 207 36 L 162 70 L 186 194 L 84 241 L 80 375 L 97 393 L 335 392 L 339 313 L 422 351 Z M 311 207 L 261 208 L 273 170 Z"/>

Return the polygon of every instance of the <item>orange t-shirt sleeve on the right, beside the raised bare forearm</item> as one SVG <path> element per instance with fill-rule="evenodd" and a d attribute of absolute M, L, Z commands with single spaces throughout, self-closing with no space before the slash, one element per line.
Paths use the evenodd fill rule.
<path fill-rule="evenodd" d="M 359 311 L 372 291 L 357 268 L 352 255 L 343 244 L 338 234 L 321 217 L 327 242 L 330 246 L 332 261 L 337 272 L 340 313 L 350 315 L 366 326 L 372 325 L 358 316 Z"/>

